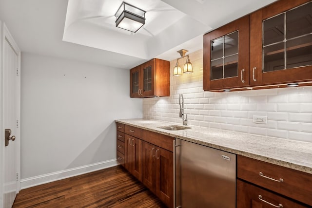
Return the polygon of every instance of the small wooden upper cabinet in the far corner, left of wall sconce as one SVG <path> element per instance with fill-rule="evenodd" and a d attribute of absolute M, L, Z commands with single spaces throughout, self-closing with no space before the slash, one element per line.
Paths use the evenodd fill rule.
<path fill-rule="evenodd" d="M 130 70 L 130 97 L 169 96 L 170 63 L 154 58 Z"/>

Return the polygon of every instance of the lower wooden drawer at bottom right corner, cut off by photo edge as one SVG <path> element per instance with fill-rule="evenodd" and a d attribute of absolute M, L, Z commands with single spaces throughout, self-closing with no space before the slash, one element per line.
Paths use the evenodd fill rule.
<path fill-rule="evenodd" d="M 308 206 L 298 204 L 288 198 L 253 186 L 241 180 L 236 181 L 236 187 L 237 208 L 273 208 L 281 207 L 281 205 L 283 208 L 308 208 Z"/>

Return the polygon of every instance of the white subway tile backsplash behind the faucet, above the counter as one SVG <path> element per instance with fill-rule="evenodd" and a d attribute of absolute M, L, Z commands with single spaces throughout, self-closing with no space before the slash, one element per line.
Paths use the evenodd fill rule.
<path fill-rule="evenodd" d="M 178 95 L 183 94 L 189 124 L 312 142 L 312 86 L 229 93 L 202 90 L 202 50 L 190 54 L 194 73 L 172 76 L 170 97 L 145 98 L 143 117 L 182 124 Z M 180 60 L 180 65 L 185 60 Z M 253 115 L 268 116 L 254 124 Z"/>

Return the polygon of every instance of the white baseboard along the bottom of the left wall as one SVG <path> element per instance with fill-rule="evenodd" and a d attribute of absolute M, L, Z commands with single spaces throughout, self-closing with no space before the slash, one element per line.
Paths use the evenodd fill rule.
<path fill-rule="evenodd" d="M 61 180 L 64 178 L 73 177 L 76 175 L 81 175 L 88 172 L 93 172 L 96 170 L 101 170 L 113 166 L 117 166 L 117 160 L 107 160 L 99 163 L 94 163 L 86 166 L 80 166 L 78 168 L 72 168 L 67 170 L 61 170 L 57 172 L 52 172 L 48 174 L 38 175 L 35 177 L 25 178 L 20 180 L 20 188 L 27 189 L 29 187 L 38 186 L 40 184 L 46 184 L 52 181 Z"/>

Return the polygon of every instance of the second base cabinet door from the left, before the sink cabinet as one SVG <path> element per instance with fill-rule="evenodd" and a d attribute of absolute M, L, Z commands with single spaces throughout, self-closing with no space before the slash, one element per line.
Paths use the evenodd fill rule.
<path fill-rule="evenodd" d="M 131 173 L 142 181 L 142 140 L 135 138 L 132 142 Z"/>

